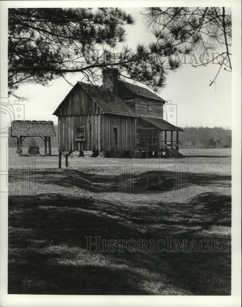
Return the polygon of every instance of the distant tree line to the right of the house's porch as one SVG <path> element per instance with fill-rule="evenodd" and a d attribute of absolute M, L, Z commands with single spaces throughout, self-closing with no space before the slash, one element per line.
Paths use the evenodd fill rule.
<path fill-rule="evenodd" d="M 198 148 L 231 148 L 232 131 L 222 127 L 185 127 L 179 134 L 182 145 L 195 145 Z"/>

